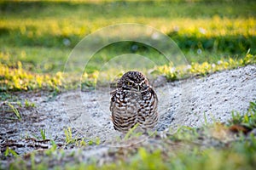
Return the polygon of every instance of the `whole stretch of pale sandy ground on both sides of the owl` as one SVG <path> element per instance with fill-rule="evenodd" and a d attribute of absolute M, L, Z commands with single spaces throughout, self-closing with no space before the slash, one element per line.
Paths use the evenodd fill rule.
<path fill-rule="evenodd" d="M 156 129 L 163 131 L 183 125 L 201 127 L 206 122 L 227 122 L 232 111 L 244 113 L 249 102 L 255 101 L 255 84 L 255 65 L 207 77 L 168 82 L 155 88 L 160 113 Z M 64 128 L 67 127 L 72 127 L 74 138 L 99 138 L 102 143 L 116 139 L 120 133 L 113 129 L 110 119 L 110 91 L 109 88 L 97 88 L 90 92 L 69 91 L 50 100 L 43 92 L 18 94 L 22 99 L 30 99 L 36 107 L 20 111 L 21 121 L 4 118 L 11 113 L 0 113 L 1 144 L 3 146 L 8 140 L 17 142 L 40 138 L 40 129 L 45 129 L 47 139 L 54 139 L 57 144 L 65 143 Z M 15 148 L 21 155 L 31 150 L 34 147 L 27 144 Z"/>

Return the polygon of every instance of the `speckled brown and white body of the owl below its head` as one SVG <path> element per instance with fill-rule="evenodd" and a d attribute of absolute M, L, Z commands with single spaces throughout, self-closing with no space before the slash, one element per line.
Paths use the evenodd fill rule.
<path fill-rule="evenodd" d="M 143 93 L 117 88 L 111 95 L 109 109 L 114 129 L 127 132 L 137 122 L 147 129 L 158 122 L 158 99 L 153 88 L 148 88 Z"/>

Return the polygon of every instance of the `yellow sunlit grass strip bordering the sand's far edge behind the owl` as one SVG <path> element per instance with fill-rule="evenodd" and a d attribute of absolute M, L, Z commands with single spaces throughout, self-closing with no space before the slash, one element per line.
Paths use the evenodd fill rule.
<path fill-rule="evenodd" d="M 206 76 L 216 71 L 234 69 L 245 65 L 256 64 L 256 57 L 252 54 L 247 54 L 242 59 L 221 59 L 217 63 L 192 63 L 191 65 L 178 65 L 174 67 L 172 64 L 157 66 L 154 71 L 151 71 L 152 76 L 165 76 L 167 81 L 176 81 L 191 76 Z M 16 67 L 0 65 L 0 84 L 1 91 L 20 91 L 20 90 L 55 90 L 78 88 L 82 90 L 94 89 L 96 85 L 106 86 L 106 83 L 112 81 L 111 78 L 118 76 L 118 70 L 112 69 L 109 71 L 93 71 L 92 73 L 84 72 L 81 77 L 74 76 L 73 73 L 66 73 L 64 77 L 61 72 L 56 74 L 36 74 L 26 71 L 22 68 L 20 62 Z M 145 72 L 148 74 L 148 72 Z M 99 82 L 101 75 L 101 82 Z M 108 77 L 102 77 L 108 75 Z M 121 75 L 119 75 L 121 76 Z M 118 77 L 116 77 L 118 78 Z"/>

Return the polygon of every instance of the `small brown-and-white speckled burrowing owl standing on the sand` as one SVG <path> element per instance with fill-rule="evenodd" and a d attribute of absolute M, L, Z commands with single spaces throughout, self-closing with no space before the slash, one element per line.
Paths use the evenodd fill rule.
<path fill-rule="evenodd" d="M 115 130 L 127 133 L 138 123 L 146 131 L 157 124 L 158 99 L 143 73 L 126 72 L 111 94 L 110 111 Z"/>

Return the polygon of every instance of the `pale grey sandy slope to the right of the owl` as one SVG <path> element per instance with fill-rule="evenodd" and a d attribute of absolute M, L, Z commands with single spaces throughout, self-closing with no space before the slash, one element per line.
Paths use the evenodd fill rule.
<path fill-rule="evenodd" d="M 256 99 L 255 75 L 256 66 L 248 65 L 157 89 L 166 91 L 172 86 L 171 95 L 162 99 L 168 111 L 162 113 L 159 127 L 201 127 L 206 122 L 227 122 L 232 111 L 245 113 L 249 102 Z M 173 121 L 163 123 L 169 117 Z"/>

